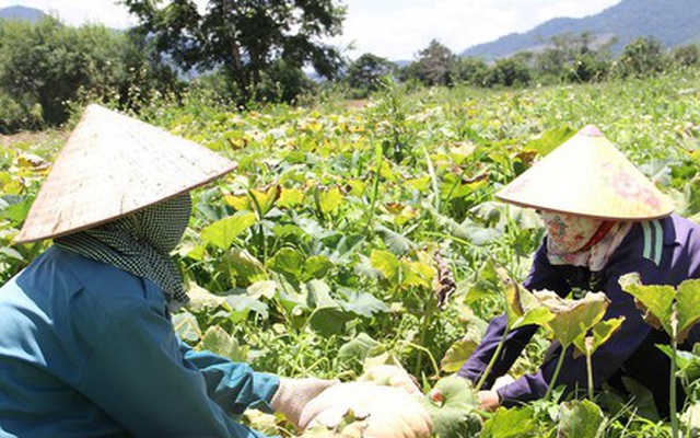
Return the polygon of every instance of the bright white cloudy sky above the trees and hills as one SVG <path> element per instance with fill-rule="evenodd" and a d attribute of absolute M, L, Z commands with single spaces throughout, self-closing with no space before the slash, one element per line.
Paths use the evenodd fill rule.
<path fill-rule="evenodd" d="M 195 0 L 205 8 L 207 0 Z M 341 0 L 343 34 L 331 41 L 354 59 L 364 53 L 390 60 L 413 60 L 431 39 L 453 53 L 513 32 L 526 32 L 558 16 L 592 15 L 620 0 Z M 114 28 L 136 24 L 114 0 L 0 0 L 0 8 L 40 9 L 72 25 L 102 23 Z"/>

